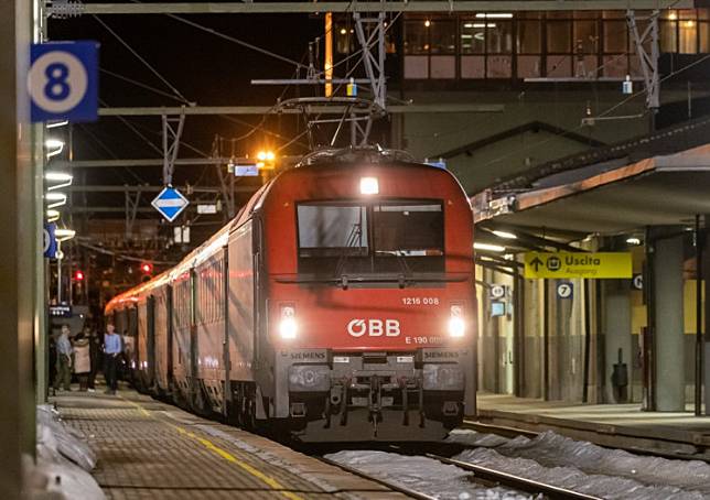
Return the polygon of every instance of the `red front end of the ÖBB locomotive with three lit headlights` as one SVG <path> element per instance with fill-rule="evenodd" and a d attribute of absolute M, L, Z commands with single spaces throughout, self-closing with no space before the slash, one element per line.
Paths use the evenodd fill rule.
<path fill-rule="evenodd" d="M 465 194 L 412 163 L 282 177 L 263 205 L 271 416 L 308 442 L 441 439 L 475 404 Z"/>

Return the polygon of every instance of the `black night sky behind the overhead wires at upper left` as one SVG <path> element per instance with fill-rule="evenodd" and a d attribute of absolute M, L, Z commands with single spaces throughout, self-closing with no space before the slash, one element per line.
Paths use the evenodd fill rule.
<path fill-rule="evenodd" d="M 323 21 L 306 14 L 293 15 L 191 15 L 186 19 L 219 32 L 238 37 L 259 47 L 276 52 L 295 61 L 305 61 L 308 42 L 323 34 Z M 294 66 L 259 54 L 233 42 L 202 32 L 166 15 L 105 15 L 101 20 L 144 57 L 158 72 L 176 87 L 190 101 L 204 106 L 271 106 L 283 87 L 252 86 L 251 78 L 290 78 Z M 71 20 L 50 20 L 50 40 L 97 40 L 100 42 L 100 66 L 104 69 L 136 79 L 170 93 L 170 89 L 122 46 L 96 19 L 84 15 Z M 305 88 L 288 90 L 287 97 Z M 303 95 L 303 94 L 302 94 Z M 105 73 L 100 74 L 100 98 L 108 106 L 176 106 L 176 100 L 141 89 Z M 257 123 L 260 117 L 234 117 Z M 160 118 L 129 118 L 141 133 L 160 146 Z M 265 127 L 284 137 L 297 132 L 295 119 L 269 118 Z M 184 140 L 195 148 L 209 152 L 215 134 L 234 138 L 250 130 L 222 117 L 187 117 Z M 257 132 L 236 144 L 236 154 L 254 153 L 267 137 Z M 283 140 L 281 143 L 286 142 Z M 79 124 L 74 135 L 75 159 L 155 157 L 158 153 L 126 124 L 116 118 L 103 118 L 97 123 Z M 286 153 L 303 152 L 294 145 Z M 182 149 L 182 156 L 196 156 L 195 152 Z M 160 169 L 140 176 L 157 182 Z M 138 172 L 138 171 L 137 171 Z M 194 170 L 193 170 L 194 172 Z M 125 171 L 92 171 L 87 183 L 135 183 L 136 178 Z M 190 172 L 178 172 L 192 177 Z"/>

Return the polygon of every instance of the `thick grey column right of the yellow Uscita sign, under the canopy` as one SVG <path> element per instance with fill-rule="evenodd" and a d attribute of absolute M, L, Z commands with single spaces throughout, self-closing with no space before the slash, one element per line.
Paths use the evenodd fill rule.
<path fill-rule="evenodd" d="M 676 236 L 655 242 L 653 289 L 655 317 L 656 411 L 686 407 L 682 317 L 682 244 Z"/>

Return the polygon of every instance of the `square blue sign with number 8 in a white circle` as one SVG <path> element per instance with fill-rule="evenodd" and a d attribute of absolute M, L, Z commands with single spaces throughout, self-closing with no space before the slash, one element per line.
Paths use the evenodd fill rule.
<path fill-rule="evenodd" d="M 98 118 L 98 43 L 32 45 L 28 90 L 32 121 Z"/>

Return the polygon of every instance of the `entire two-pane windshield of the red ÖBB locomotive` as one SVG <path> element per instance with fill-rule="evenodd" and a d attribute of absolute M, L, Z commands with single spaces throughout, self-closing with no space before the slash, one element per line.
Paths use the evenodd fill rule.
<path fill-rule="evenodd" d="M 299 204 L 298 229 L 300 272 L 443 272 L 440 202 Z"/>

